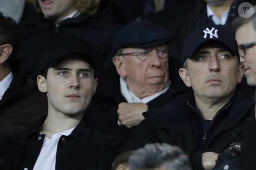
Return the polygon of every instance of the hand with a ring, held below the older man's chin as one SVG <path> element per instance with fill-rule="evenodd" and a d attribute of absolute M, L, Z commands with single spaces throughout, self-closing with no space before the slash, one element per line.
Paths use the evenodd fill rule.
<path fill-rule="evenodd" d="M 147 104 L 144 103 L 122 102 L 117 109 L 118 121 L 128 128 L 137 126 L 144 119 L 142 113 L 147 109 Z"/>

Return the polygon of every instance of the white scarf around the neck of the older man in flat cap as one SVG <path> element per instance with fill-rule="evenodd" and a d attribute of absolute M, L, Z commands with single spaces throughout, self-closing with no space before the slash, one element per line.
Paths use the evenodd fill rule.
<path fill-rule="evenodd" d="M 120 77 L 120 90 L 121 90 L 121 93 L 123 94 L 124 98 L 128 101 L 128 103 L 142 102 L 142 103 L 146 104 L 149 101 L 153 100 L 154 98 L 157 98 L 161 94 L 165 93 L 169 89 L 170 84 L 171 84 L 171 82 L 169 82 L 168 86 L 164 90 L 158 92 L 157 94 L 154 94 L 152 96 L 149 96 L 149 97 L 146 97 L 146 98 L 143 98 L 143 99 L 139 99 L 136 95 L 134 95 L 128 89 L 128 86 L 127 86 L 127 83 L 126 83 L 125 79 Z"/>

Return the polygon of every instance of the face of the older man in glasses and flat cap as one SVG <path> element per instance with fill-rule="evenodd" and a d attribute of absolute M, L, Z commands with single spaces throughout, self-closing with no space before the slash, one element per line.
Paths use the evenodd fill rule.
<path fill-rule="evenodd" d="M 148 57 L 147 51 L 151 51 Z M 136 52 L 136 54 L 128 54 Z M 145 53 L 146 52 L 146 53 Z M 113 58 L 119 75 L 126 79 L 129 90 L 138 98 L 156 94 L 168 86 L 168 50 L 166 44 L 152 48 L 125 48 Z M 119 61 L 117 64 L 117 60 Z"/>

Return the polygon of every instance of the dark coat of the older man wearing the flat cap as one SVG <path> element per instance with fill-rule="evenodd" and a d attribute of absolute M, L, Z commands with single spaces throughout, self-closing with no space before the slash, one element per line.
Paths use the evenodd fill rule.
<path fill-rule="evenodd" d="M 186 93 L 190 89 L 184 85 L 178 75 L 178 65 L 170 60 L 170 80 L 169 90 L 152 101 L 148 102 L 148 110 L 161 107 L 172 101 L 177 94 Z M 127 102 L 120 91 L 120 76 L 114 66 L 99 77 L 99 83 L 96 95 L 93 96 L 87 112 L 95 127 L 98 127 L 108 134 L 126 139 L 134 129 L 127 129 L 124 126 L 118 126 L 118 105 L 121 102 Z"/>

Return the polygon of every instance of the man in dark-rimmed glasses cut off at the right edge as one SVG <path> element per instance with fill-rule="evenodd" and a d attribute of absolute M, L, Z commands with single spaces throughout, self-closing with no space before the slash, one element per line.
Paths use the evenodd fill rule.
<path fill-rule="evenodd" d="M 240 60 L 245 65 L 244 76 L 248 85 L 256 87 L 256 6 L 249 18 L 237 17 L 232 22 L 232 29 L 238 43 Z M 235 170 L 255 170 L 256 168 L 256 112 L 248 118 L 245 127 L 244 140 L 241 144 L 232 144 L 218 156 L 216 162 L 219 167 L 228 165 Z M 236 147 L 237 146 L 237 147 Z"/>

